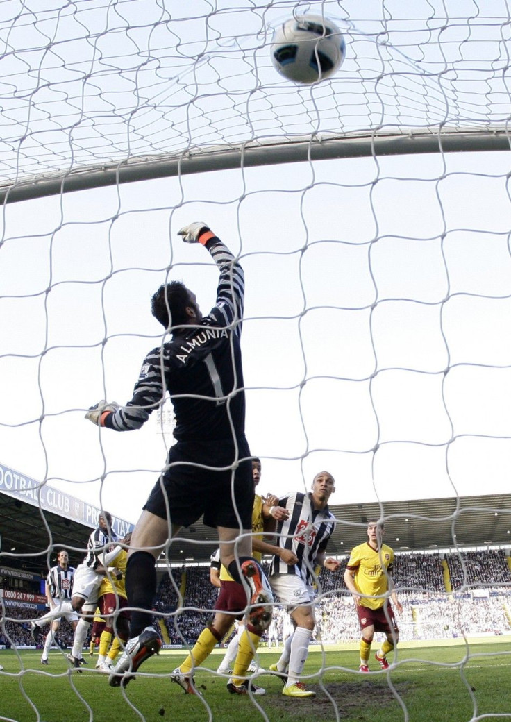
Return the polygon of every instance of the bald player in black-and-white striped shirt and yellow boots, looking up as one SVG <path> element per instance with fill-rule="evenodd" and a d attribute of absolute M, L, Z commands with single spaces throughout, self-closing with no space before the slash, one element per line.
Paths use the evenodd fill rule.
<path fill-rule="evenodd" d="M 277 534 L 279 547 L 293 552 L 296 564 L 284 562 L 275 555 L 271 562 L 270 584 L 276 598 L 283 604 L 295 625 L 294 633 L 287 638 L 284 652 L 270 670 L 287 675 L 282 693 L 287 697 L 315 697 L 300 681 L 307 659 L 310 639 L 315 627 L 313 590 L 314 568 L 325 567 L 336 571 L 339 562 L 326 558 L 328 539 L 336 528 L 336 518 L 328 509 L 328 499 L 335 491 L 333 476 L 320 471 L 313 479 L 309 494 L 294 492 L 279 501 L 289 516 L 279 521 Z"/>

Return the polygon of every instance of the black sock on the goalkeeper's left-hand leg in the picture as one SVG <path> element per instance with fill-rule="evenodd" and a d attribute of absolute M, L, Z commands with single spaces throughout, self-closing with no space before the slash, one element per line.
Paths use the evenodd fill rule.
<path fill-rule="evenodd" d="M 138 637 L 146 627 L 152 627 L 152 601 L 156 593 L 154 557 L 149 552 L 135 552 L 126 567 L 128 606 L 139 607 L 131 612 L 130 638 Z"/>

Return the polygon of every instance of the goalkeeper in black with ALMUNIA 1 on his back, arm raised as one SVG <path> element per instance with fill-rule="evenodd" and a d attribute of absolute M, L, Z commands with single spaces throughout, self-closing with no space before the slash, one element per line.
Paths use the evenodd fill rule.
<path fill-rule="evenodd" d="M 264 630 L 271 621 L 273 596 L 251 556 L 254 487 L 240 349 L 243 269 L 205 223 L 192 223 L 179 235 L 186 243 L 204 245 L 217 264 L 216 305 L 203 317 L 195 294 L 182 282 L 162 285 L 152 297 L 152 314 L 170 340 L 149 352 L 126 406 L 100 401 L 86 414 L 93 423 L 115 431 L 139 429 L 166 391 L 175 413 L 176 443 L 131 538 L 126 593 L 128 606 L 136 609 L 130 640 L 110 675 L 113 687 L 127 683 L 141 663 L 159 651 L 151 612 L 155 561 L 182 526 L 203 514 L 204 523 L 217 528 L 222 564 L 235 581 L 245 582 L 252 605 L 250 623 Z"/>

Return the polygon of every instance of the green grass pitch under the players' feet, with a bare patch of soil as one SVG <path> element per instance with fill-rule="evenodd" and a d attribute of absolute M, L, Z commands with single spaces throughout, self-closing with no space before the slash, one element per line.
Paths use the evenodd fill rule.
<path fill-rule="evenodd" d="M 372 653 L 375 651 L 373 645 Z M 216 669 L 221 652 L 206 661 Z M 66 658 L 51 653 L 41 666 L 40 652 L 0 652 L 0 720 L 16 722 L 468 722 L 505 716 L 511 719 L 511 640 L 402 645 L 390 673 L 359 674 L 357 648 L 311 648 L 305 674 L 313 700 L 281 695 L 281 682 L 261 675 L 266 695 L 250 699 L 229 695 L 227 679 L 208 669 L 196 673 L 202 698 L 185 695 L 168 675 L 183 651 L 149 659 L 125 690 L 108 686 L 94 671 L 95 657 L 82 674 Z M 266 669 L 278 654 L 262 650 Z M 434 664 L 436 663 L 436 664 Z M 323 668 L 322 673 L 318 671 Z M 145 676 L 157 675 L 156 677 Z M 211 711 L 209 711 L 211 710 Z"/>

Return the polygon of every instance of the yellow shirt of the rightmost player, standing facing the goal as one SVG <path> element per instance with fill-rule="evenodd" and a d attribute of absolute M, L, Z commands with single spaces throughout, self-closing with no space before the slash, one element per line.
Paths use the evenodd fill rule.
<path fill-rule="evenodd" d="M 394 561 L 394 552 L 386 544 L 373 549 L 366 541 L 351 550 L 346 568 L 354 572 L 354 583 L 362 594 L 360 604 L 368 609 L 380 609 L 388 591 L 387 572 Z"/>

